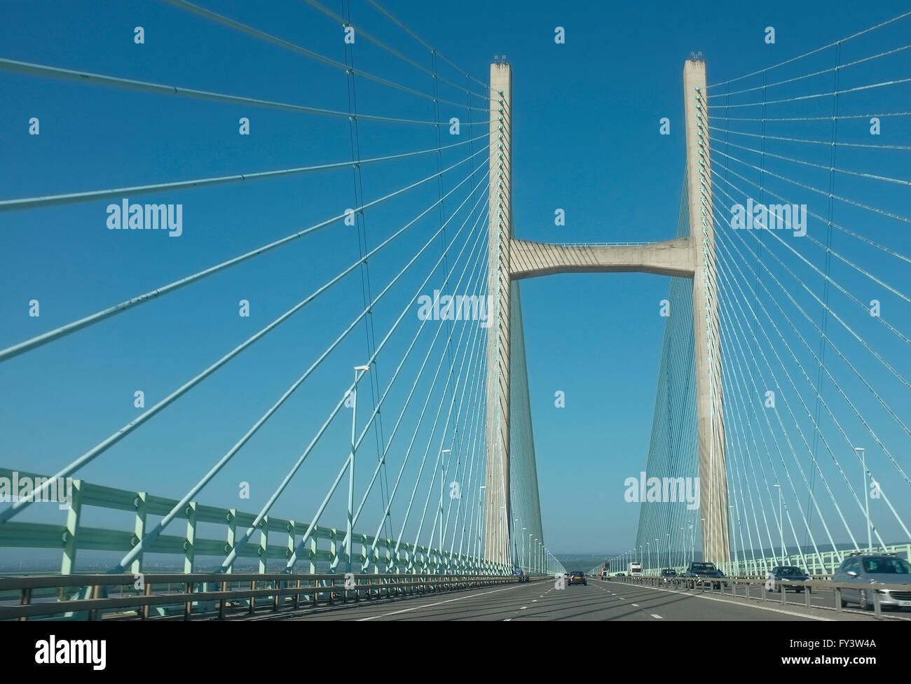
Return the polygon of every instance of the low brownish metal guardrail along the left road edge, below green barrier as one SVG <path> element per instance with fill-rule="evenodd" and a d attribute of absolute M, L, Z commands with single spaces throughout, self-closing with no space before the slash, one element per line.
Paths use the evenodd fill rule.
<path fill-rule="evenodd" d="M 512 584 L 515 576 L 194 573 L 40 575 L 0 578 L 0 594 L 18 592 L 18 605 L 0 605 L 0 619 L 226 619 L 258 611 L 333 606 L 465 588 Z M 172 587 L 177 585 L 175 592 Z M 156 591 L 158 587 L 158 592 Z M 67 588 L 70 589 L 67 592 Z M 40 590 L 70 594 L 33 602 Z"/>

